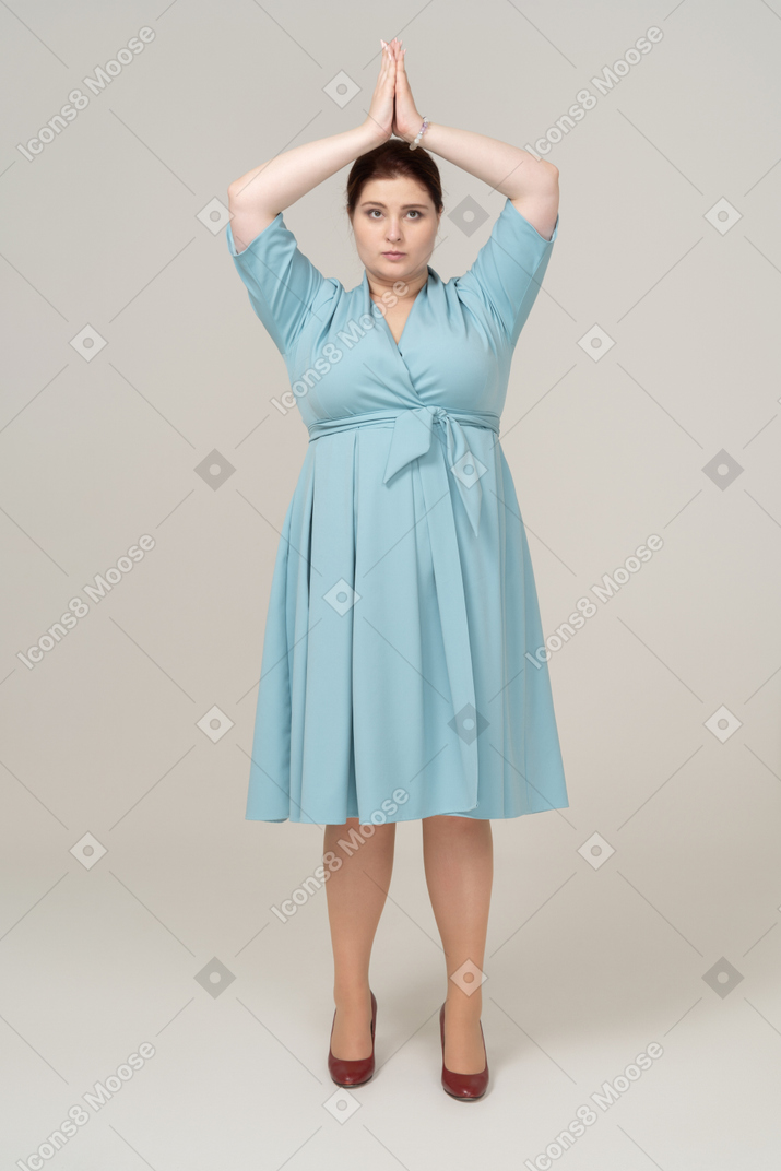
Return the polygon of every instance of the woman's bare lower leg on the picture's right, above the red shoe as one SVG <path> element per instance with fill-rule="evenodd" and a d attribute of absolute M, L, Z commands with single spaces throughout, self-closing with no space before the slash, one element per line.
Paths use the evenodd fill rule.
<path fill-rule="evenodd" d="M 450 977 L 466 960 L 482 971 L 493 883 L 491 822 L 448 814 L 424 817 L 423 861 L 447 968 L 445 1066 L 454 1074 L 479 1074 L 486 1062 L 479 977 L 468 993 Z"/>

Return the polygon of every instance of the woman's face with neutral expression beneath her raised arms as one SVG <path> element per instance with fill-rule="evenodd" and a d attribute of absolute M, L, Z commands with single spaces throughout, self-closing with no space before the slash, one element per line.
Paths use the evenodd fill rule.
<path fill-rule="evenodd" d="M 438 228 L 427 187 L 400 176 L 365 183 L 352 215 L 363 266 L 391 285 L 425 273 Z"/>

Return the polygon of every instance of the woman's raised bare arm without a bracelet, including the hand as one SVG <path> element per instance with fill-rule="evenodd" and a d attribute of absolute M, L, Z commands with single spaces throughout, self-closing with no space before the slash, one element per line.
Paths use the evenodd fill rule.
<path fill-rule="evenodd" d="M 379 76 L 365 122 L 354 130 L 317 138 L 276 155 L 228 186 L 228 211 L 233 217 L 231 230 L 240 252 L 296 199 L 341 171 L 358 155 L 390 138 L 395 82 L 393 55 L 383 49 Z"/>

